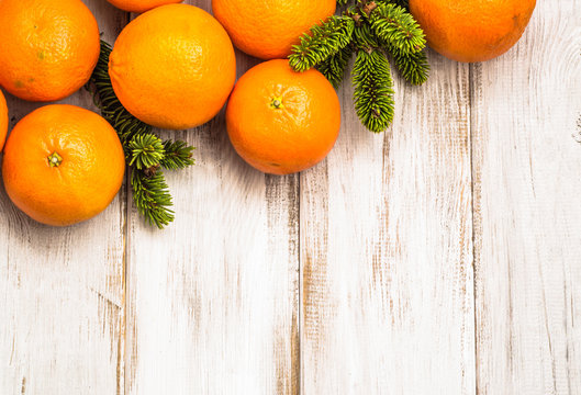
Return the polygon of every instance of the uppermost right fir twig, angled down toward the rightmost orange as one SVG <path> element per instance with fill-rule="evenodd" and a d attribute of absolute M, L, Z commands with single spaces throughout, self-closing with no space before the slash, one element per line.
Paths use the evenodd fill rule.
<path fill-rule="evenodd" d="M 369 16 L 377 36 L 402 54 L 415 54 L 426 46 L 424 32 L 405 9 L 381 4 Z"/>

